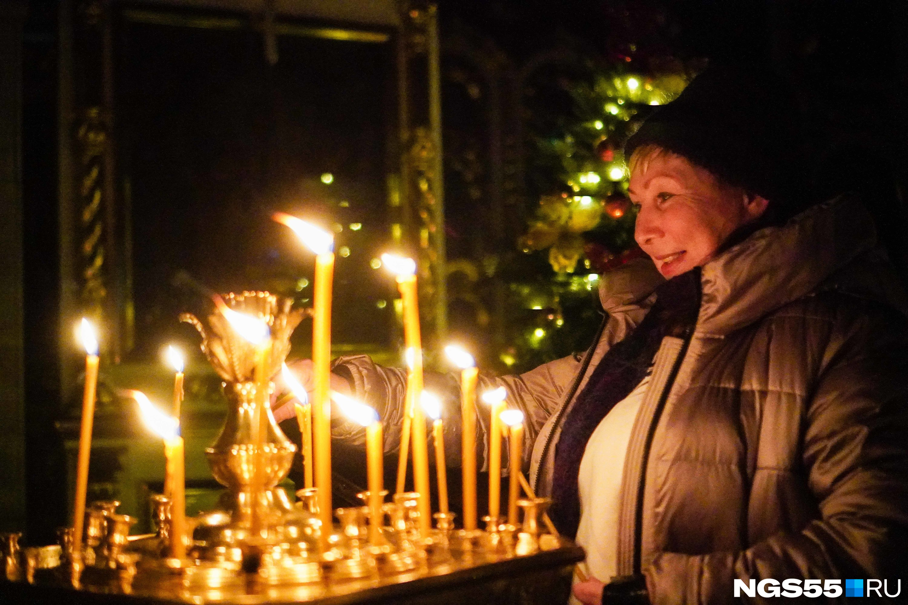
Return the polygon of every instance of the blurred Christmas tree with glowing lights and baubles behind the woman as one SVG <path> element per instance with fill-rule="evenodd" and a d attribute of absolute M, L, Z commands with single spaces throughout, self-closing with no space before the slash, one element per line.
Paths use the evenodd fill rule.
<path fill-rule="evenodd" d="M 525 254 L 503 268 L 510 307 L 524 309 L 511 317 L 508 348 L 499 356 L 510 371 L 588 346 L 600 321 L 599 275 L 642 254 L 624 141 L 657 105 L 681 93 L 688 74 L 677 62 L 648 75 L 629 63 L 625 56 L 559 78 L 568 111 L 530 123 L 538 207 L 519 240 Z"/>

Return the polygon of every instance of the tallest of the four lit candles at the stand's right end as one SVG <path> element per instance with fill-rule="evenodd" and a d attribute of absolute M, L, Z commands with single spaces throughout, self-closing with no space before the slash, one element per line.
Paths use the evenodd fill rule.
<path fill-rule="evenodd" d="M 460 468 L 463 474 L 463 529 L 476 529 L 476 383 L 473 356 L 458 346 L 445 353 L 460 368 Z"/>

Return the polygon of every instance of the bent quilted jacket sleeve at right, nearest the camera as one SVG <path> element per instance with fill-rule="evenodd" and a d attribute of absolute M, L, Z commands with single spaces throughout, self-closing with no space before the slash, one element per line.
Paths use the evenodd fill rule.
<path fill-rule="evenodd" d="M 889 579 L 895 591 L 908 543 L 906 344 L 905 319 L 894 312 L 834 317 L 797 444 L 819 518 L 745 551 L 657 553 L 644 569 L 653 603 L 739 602 L 735 579 L 840 579 L 843 590 L 846 578 Z M 761 439 L 761 448 L 784 442 L 764 439 L 779 441 Z M 741 600 L 775 602 L 743 592 Z M 823 602 L 845 602 L 844 593 Z"/>

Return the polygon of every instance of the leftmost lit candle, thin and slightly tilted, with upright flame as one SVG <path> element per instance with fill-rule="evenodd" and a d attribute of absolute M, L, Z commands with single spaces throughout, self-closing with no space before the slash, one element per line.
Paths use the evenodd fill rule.
<path fill-rule="evenodd" d="M 92 453 L 94 425 L 94 395 L 98 385 L 98 338 L 94 327 L 83 317 L 79 339 L 85 347 L 85 387 L 82 396 L 82 424 L 79 431 L 79 457 L 75 471 L 75 501 L 73 503 L 73 553 L 82 552 L 82 532 L 85 521 L 85 494 L 88 491 L 88 460 Z"/>

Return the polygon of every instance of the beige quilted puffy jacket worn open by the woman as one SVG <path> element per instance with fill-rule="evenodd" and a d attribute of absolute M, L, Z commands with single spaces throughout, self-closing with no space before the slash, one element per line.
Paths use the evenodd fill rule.
<path fill-rule="evenodd" d="M 609 317 L 588 360 L 482 377 L 527 415 L 538 493 L 574 398 L 660 280 L 647 264 L 602 280 Z M 710 260 L 702 286 L 693 336 L 656 354 L 628 445 L 619 574 L 645 573 L 660 605 L 735 602 L 735 578 L 889 579 L 892 592 L 908 571 L 908 306 L 873 221 L 851 197 L 826 202 Z M 395 448 L 403 373 L 339 363 Z M 456 376 L 427 385 L 449 392 L 458 460 Z M 482 431 L 488 421 L 480 413 Z"/>

